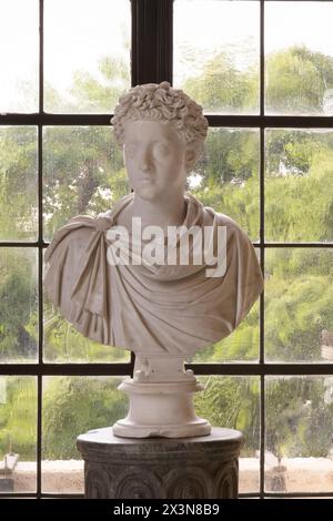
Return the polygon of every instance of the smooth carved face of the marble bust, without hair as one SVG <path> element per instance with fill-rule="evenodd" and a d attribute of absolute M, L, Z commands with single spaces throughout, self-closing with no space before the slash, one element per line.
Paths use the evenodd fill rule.
<path fill-rule="evenodd" d="M 170 123 L 129 121 L 123 152 L 131 187 L 140 197 L 159 200 L 184 190 L 190 150 Z"/>

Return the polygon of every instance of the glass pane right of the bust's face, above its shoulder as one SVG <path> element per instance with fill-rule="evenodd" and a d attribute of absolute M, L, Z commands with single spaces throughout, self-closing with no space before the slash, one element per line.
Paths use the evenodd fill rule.
<path fill-rule="evenodd" d="M 205 153 L 188 178 L 189 192 L 259 237 L 259 131 L 209 129 Z"/>

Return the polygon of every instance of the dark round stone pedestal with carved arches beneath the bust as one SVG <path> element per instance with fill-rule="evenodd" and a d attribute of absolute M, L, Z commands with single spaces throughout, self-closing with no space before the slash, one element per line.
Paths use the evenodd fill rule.
<path fill-rule="evenodd" d="M 91 430 L 77 441 L 84 459 L 85 498 L 236 498 L 243 435 L 212 428 L 198 438 L 130 439 L 112 428 Z"/>

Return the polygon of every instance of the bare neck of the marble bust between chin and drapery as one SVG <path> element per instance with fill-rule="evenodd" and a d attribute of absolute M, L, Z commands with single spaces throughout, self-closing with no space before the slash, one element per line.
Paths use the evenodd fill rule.
<path fill-rule="evenodd" d="M 185 210 L 183 191 L 173 194 L 172 197 L 165 197 L 163 201 L 142 200 L 134 193 L 131 215 L 141 217 L 143 226 L 179 226 L 184 221 Z"/>

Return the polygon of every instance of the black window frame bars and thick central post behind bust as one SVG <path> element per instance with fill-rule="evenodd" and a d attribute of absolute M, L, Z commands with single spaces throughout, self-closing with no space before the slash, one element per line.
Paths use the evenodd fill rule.
<path fill-rule="evenodd" d="M 112 0 L 110 0 L 112 1 Z M 169 81 L 172 84 L 172 50 L 173 50 L 173 0 L 124 0 L 131 2 L 132 10 L 132 42 L 131 42 L 131 83 L 132 85 Z M 249 0 L 250 1 L 250 0 Z M 252 0 L 253 1 L 253 0 Z M 291 116 L 265 115 L 264 113 L 264 9 L 273 0 L 254 0 L 260 3 L 260 113 L 258 115 L 212 115 L 205 114 L 212 127 L 259 129 L 260 131 L 260 238 L 253 245 L 260 249 L 261 268 L 264 273 L 266 248 L 333 248 L 333 243 L 272 243 L 264 236 L 264 174 L 265 174 L 265 141 L 266 129 L 333 129 L 332 116 Z M 291 2 L 294 0 L 280 0 Z M 313 0 L 302 0 L 313 1 Z M 324 0 L 333 3 L 333 0 Z M 91 3 L 93 8 L 93 2 Z M 38 386 L 38 418 L 37 418 L 37 492 L 11 493 L 10 497 L 31 498 L 75 498 L 83 494 L 56 494 L 42 492 L 42 378 L 44 376 L 131 376 L 134 356 L 127 364 L 49 364 L 43 361 L 43 294 L 42 294 L 42 262 L 43 251 L 48 243 L 43 241 L 42 229 L 42 130 L 46 125 L 101 125 L 109 126 L 112 114 L 50 114 L 43 111 L 43 8 L 44 1 L 39 0 L 40 25 L 40 61 L 39 61 L 39 112 L 8 113 L 0 115 L 0 125 L 33 125 L 38 129 L 38 241 L 17 242 L 2 241 L 0 247 L 38 248 L 38 315 L 39 315 L 39 353 L 36 364 L 0 364 L 0 375 L 36 376 Z M 266 362 L 264 358 L 264 293 L 260 297 L 260 351 L 259 360 L 244 364 L 191 364 L 186 366 L 200 375 L 220 376 L 258 376 L 260 378 L 260 488 L 259 492 L 242 493 L 240 497 L 333 497 L 331 492 L 282 493 L 264 490 L 264 450 L 265 450 L 265 376 L 315 376 L 333 375 L 333 364 L 275 364 Z M 8 492 L 0 492 L 9 497 Z"/>

